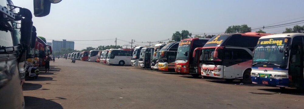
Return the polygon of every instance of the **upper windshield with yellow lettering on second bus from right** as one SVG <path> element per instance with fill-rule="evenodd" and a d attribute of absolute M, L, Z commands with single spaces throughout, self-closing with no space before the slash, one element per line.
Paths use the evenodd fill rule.
<path fill-rule="evenodd" d="M 210 46 L 221 46 L 225 43 L 225 41 L 230 37 L 231 35 L 219 35 L 212 37 L 205 45 L 204 47 L 210 47 Z"/>

